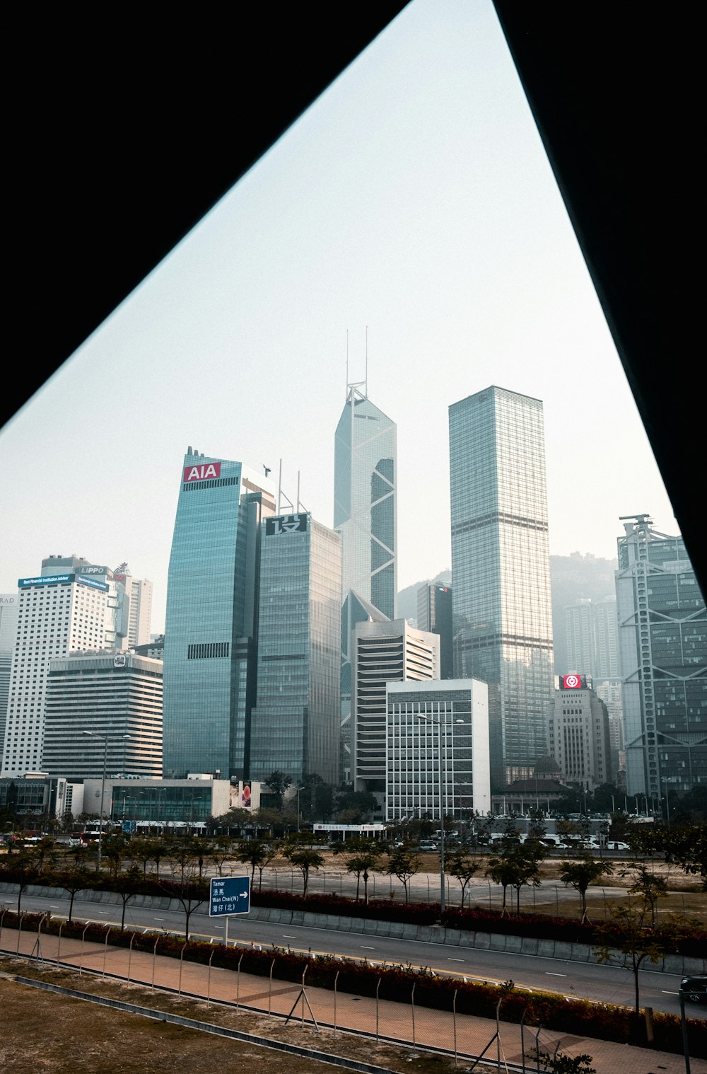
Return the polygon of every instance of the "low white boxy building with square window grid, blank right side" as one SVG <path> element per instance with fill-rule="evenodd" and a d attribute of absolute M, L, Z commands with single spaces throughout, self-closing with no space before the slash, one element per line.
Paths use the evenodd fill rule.
<path fill-rule="evenodd" d="M 385 819 L 488 813 L 486 683 L 388 682 L 385 693 Z"/>

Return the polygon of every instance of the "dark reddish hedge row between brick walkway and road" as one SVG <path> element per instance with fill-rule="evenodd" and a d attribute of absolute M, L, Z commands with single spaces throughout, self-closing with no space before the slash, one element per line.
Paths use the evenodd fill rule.
<path fill-rule="evenodd" d="M 36 930 L 42 919 L 41 914 L 23 915 L 23 928 L 28 926 Z M 18 915 L 8 912 L 3 917 L 5 928 L 17 928 Z M 86 925 L 83 921 L 63 924 L 56 919 L 46 919 L 42 926 L 44 932 L 59 933 L 62 937 L 73 937 L 103 943 L 106 938 L 106 927 L 98 923 Z M 113 946 L 128 947 L 152 954 L 182 957 L 188 961 L 221 967 L 227 970 L 240 969 L 244 973 L 255 976 L 273 976 L 279 981 L 291 981 L 312 987 L 374 998 L 394 1002 L 414 1002 L 419 1006 L 438 1011 L 456 1010 L 457 1014 L 474 1015 L 481 1018 L 495 1018 L 499 996 L 502 996 L 500 1017 L 503 1021 L 519 1022 L 524 1017 L 526 1025 L 542 1025 L 546 1029 L 561 1030 L 579 1036 L 599 1037 L 622 1044 L 646 1045 L 646 1031 L 643 1018 L 627 1007 L 609 1003 L 591 1003 L 588 1000 L 572 999 L 549 992 L 520 991 L 513 987 L 484 985 L 475 982 L 465 982 L 458 978 L 438 977 L 431 971 L 415 971 L 408 967 L 373 967 L 366 960 L 357 962 L 353 959 L 335 958 L 334 956 L 305 956 L 289 950 L 271 948 L 259 950 L 256 947 L 223 947 L 213 946 L 198 941 L 186 942 L 183 938 L 170 934 L 149 932 L 119 932 L 109 930 L 109 942 Z M 304 976 L 305 975 L 305 976 Z M 380 985 L 379 985 L 380 981 Z M 690 1054 L 695 1058 L 707 1058 L 707 1022 L 696 1018 L 688 1018 L 688 1036 Z M 675 1054 L 682 1053 L 682 1032 L 680 1018 L 676 1015 L 653 1014 L 653 1047 Z"/>

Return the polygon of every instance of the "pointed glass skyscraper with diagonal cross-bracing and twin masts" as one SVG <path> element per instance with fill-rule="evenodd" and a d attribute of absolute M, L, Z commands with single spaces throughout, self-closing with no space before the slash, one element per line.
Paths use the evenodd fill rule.
<path fill-rule="evenodd" d="M 334 528 L 341 534 L 341 728 L 345 770 L 351 769 L 351 632 L 356 623 L 395 619 L 398 587 L 397 429 L 360 387 L 349 384 L 334 444 Z"/>

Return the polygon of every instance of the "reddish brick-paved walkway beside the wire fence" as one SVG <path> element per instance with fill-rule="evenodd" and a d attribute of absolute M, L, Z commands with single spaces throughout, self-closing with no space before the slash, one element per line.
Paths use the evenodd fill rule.
<path fill-rule="evenodd" d="M 36 940 L 35 932 L 18 933 L 15 929 L 5 928 L 0 933 L 0 952 L 36 955 Z M 60 959 L 75 967 L 79 973 L 90 970 L 92 977 L 97 972 L 118 976 L 149 988 L 170 988 L 198 996 L 207 1002 L 222 1000 L 244 1011 L 257 1011 L 269 1016 L 292 1012 L 293 1021 L 310 1026 L 313 1015 L 321 1027 L 365 1032 L 373 1037 L 380 1034 L 381 1039 L 394 1039 L 417 1048 L 444 1048 L 454 1055 L 456 1047 L 460 1063 L 465 1062 L 462 1057 L 477 1056 L 489 1044 L 486 1056 L 495 1061 L 500 1056 L 502 1070 L 504 1061 L 521 1061 L 520 1027 L 511 1022 L 500 1024 L 500 1042 L 497 1042 L 494 1041 L 496 1022 L 488 1018 L 455 1016 L 452 1012 L 431 1011 L 387 1000 L 377 1003 L 375 999 L 309 988 L 306 979 L 305 1000 L 300 995 L 300 983 L 270 981 L 233 970 L 182 962 L 159 954 L 82 942 L 80 939 L 43 934 L 40 953 L 46 959 Z M 278 1022 L 281 1025 L 282 1019 L 278 1018 Z M 558 1043 L 560 1050 L 569 1056 L 589 1054 L 598 1074 L 684 1074 L 686 1070 L 682 1056 L 559 1032 L 541 1032 L 541 1050 L 553 1053 Z M 533 1053 L 534 1046 L 535 1030 L 529 1028 L 525 1031 L 526 1054 Z M 529 1065 L 529 1070 L 534 1069 L 534 1065 Z M 707 1074 L 707 1061 L 691 1059 L 691 1074 Z"/>

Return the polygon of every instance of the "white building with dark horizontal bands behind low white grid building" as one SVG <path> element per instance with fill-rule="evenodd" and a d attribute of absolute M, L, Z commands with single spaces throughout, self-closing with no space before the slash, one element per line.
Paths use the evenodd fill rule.
<path fill-rule="evenodd" d="M 386 790 L 386 685 L 439 679 L 440 639 L 411 627 L 404 619 L 356 623 L 352 659 L 355 789 L 375 794 L 382 806 Z"/>

